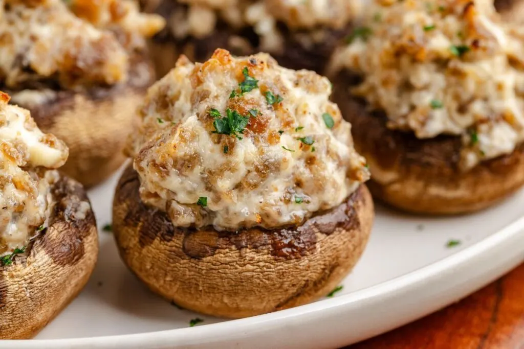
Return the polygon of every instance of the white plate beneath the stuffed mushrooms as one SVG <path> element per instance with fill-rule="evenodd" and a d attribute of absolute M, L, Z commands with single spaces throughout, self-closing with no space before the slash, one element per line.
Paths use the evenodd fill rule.
<path fill-rule="evenodd" d="M 90 192 L 110 222 L 116 176 Z M 0 348 L 333 348 L 398 327 L 496 279 L 524 260 L 524 192 L 472 216 L 410 217 L 377 207 L 372 238 L 331 299 L 242 320 L 179 310 L 151 294 L 119 260 L 111 233 L 82 294 L 32 341 Z M 449 240 L 461 244 L 447 247 Z M 189 328 L 189 321 L 204 322 Z"/>

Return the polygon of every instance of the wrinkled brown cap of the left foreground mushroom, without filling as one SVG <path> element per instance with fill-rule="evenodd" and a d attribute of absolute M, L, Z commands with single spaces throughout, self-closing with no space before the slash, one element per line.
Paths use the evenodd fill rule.
<path fill-rule="evenodd" d="M 93 271 L 98 254 L 96 221 L 82 186 L 61 177 L 51 189 L 56 205 L 46 232 L 0 266 L 0 339 L 36 335 L 73 300 Z"/>

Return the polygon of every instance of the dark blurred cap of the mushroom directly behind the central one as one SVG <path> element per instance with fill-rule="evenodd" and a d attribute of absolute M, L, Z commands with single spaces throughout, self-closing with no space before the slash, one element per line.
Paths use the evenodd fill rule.
<path fill-rule="evenodd" d="M 155 12 L 168 20 L 170 17 L 175 17 L 176 13 L 185 13 L 187 5 L 180 4 L 176 0 L 162 0 L 158 7 L 152 9 L 146 7 L 146 11 Z M 324 40 L 310 47 L 305 47 L 299 39 L 299 36 L 304 35 L 305 31 L 292 32 L 284 24 L 279 24 L 279 29 L 285 40 L 284 50 L 281 53 L 267 53 L 270 53 L 281 66 L 293 70 L 307 69 L 322 74 L 337 43 L 351 32 L 351 25 L 341 30 L 326 29 L 328 34 L 325 35 Z M 177 39 L 171 35 L 169 30 L 168 27 L 164 28 L 150 39 L 148 44 L 159 77 L 166 75 L 174 67 L 181 54 L 186 55 L 192 62 L 204 62 L 218 48 L 230 51 L 237 56 L 267 51 L 260 49 L 260 38 L 253 28 L 246 27 L 238 30 L 222 21 L 217 23 L 213 35 L 204 38 L 191 36 Z M 235 44 L 234 40 L 230 40 L 232 36 L 242 38 L 243 42 L 249 43 L 248 46 Z"/>

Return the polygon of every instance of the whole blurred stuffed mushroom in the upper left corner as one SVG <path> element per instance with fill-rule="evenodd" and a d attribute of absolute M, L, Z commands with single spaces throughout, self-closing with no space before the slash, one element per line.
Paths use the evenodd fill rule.
<path fill-rule="evenodd" d="M 92 186 L 125 157 L 130 115 L 154 81 L 145 38 L 163 19 L 123 0 L 5 0 L 0 88 L 69 147 L 62 170 Z"/>

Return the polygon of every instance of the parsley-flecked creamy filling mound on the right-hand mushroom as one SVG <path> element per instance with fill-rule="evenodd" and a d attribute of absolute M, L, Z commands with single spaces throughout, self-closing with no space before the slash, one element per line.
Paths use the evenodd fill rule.
<path fill-rule="evenodd" d="M 524 32 L 493 2 L 376 0 L 366 13 L 332 69 L 363 77 L 352 93 L 388 127 L 461 136 L 464 169 L 524 140 Z"/>

